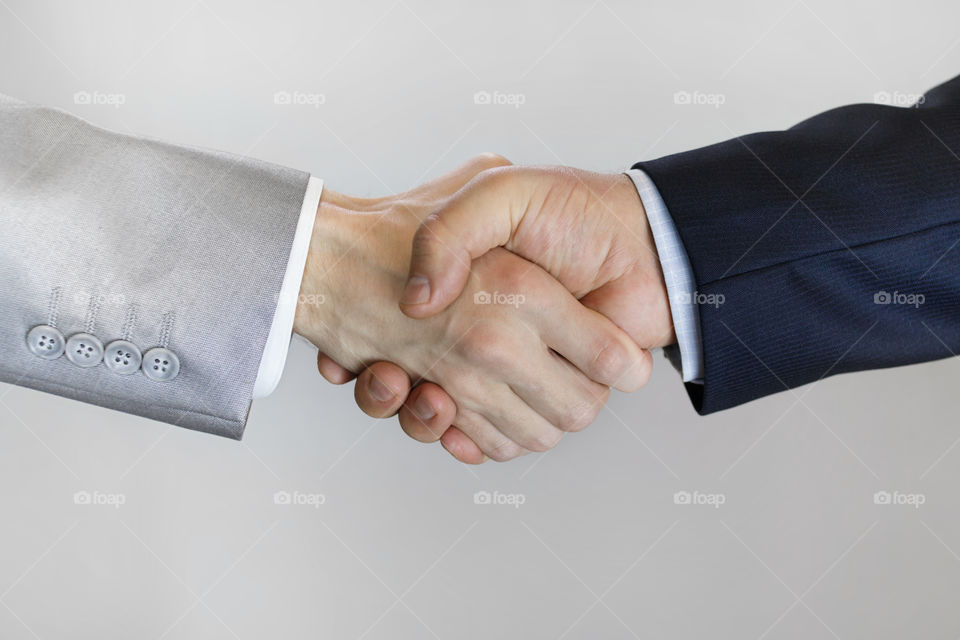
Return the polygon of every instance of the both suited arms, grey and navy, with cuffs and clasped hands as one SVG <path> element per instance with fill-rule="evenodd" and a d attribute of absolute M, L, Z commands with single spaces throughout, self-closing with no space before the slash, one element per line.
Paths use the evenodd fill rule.
<path fill-rule="evenodd" d="M 677 345 L 701 414 L 956 355 L 960 183 L 944 151 L 958 122 L 960 78 L 916 108 L 839 107 L 627 174 L 482 155 L 362 199 L 0 96 L 0 139 L 18 151 L 0 153 L 0 381 L 239 438 L 292 315 L 327 380 L 359 378 L 361 409 L 476 464 L 583 429 L 610 387 L 646 383 L 657 347 Z M 271 207 L 288 215 L 257 217 Z M 115 302 L 60 308 L 61 292 L 100 290 Z M 86 353 L 60 359 L 58 322 Z M 246 327 L 265 340 L 237 340 Z M 95 332 L 130 345 L 124 371 Z M 138 369 L 137 344 L 179 351 L 183 370 Z M 151 384 L 116 377 L 140 369 Z"/>

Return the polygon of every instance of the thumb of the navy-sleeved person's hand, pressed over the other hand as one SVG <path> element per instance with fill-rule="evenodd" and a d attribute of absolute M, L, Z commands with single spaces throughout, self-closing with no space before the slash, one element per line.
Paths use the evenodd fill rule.
<path fill-rule="evenodd" d="M 512 171 L 484 172 L 420 224 L 400 296 L 406 315 L 427 318 L 446 309 L 466 286 L 473 259 L 513 237 L 526 207 Z"/>

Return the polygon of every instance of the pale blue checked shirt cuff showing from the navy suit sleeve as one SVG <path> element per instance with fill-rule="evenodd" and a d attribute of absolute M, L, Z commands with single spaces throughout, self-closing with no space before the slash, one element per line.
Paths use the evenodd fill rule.
<path fill-rule="evenodd" d="M 670 300 L 670 315 L 673 316 L 673 329 L 677 334 L 679 358 L 674 348 L 664 351 L 670 361 L 683 375 L 684 382 L 703 382 L 703 344 L 700 338 L 700 310 L 697 307 L 697 283 L 693 278 L 693 267 L 683 247 L 677 227 L 667 211 L 660 192 L 645 172 L 640 169 L 627 171 L 633 180 L 640 201 L 647 212 L 653 241 L 660 256 L 660 267 L 667 284 L 667 297 Z M 680 360 L 679 366 L 677 360 Z"/>

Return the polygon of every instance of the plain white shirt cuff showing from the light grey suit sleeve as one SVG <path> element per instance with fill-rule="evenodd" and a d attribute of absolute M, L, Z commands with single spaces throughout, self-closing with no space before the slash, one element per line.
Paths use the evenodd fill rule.
<path fill-rule="evenodd" d="M 297 222 L 297 231 L 293 236 L 293 247 L 290 250 L 290 259 L 287 261 L 287 271 L 280 285 L 280 294 L 277 296 L 277 311 L 273 315 L 273 324 L 270 325 L 270 334 L 260 359 L 260 370 L 257 372 L 257 381 L 253 385 L 253 397 L 265 398 L 273 393 L 280 383 L 283 367 L 287 362 L 287 351 L 290 350 L 290 337 L 293 335 L 293 318 L 297 313 L 297 299 L 300 296 L 300 284 L 303 280 L 303 269 L 307 264 L 307 252 L 310 249 L 310 238 L 313 236 L 313 223 L 317 218 L 317 207 L 320 206 L 320 196 L 323 194 L 323 180 L 310 176 L 307 183 L 307 192 L 303 197 L 303 207 L 300 209 L 300 220 Z"/>

